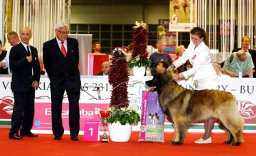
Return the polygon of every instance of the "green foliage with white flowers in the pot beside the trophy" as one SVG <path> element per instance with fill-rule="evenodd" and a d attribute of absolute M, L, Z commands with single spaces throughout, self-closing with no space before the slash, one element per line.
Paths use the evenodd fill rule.
<path fill-rule="evenodd" d="M 131 108 L 110 107 L 108 109 L 111 111 L 111 115 L 109 118 L 107 118 L 107 123 L 112 124 L 119 121 L 121 125 L 137 125 L 139 122 L 139 113 L 132 110 Z"/>

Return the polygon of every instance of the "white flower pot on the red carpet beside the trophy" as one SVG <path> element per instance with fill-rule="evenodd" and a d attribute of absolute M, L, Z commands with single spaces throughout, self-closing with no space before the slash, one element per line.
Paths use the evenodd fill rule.
<path fill-rule="evenodd" d="M 113 142 L 127 142 L 131 137 L 132 125 L 121 125 L 119 122 L 108 125 L 110 139 Z"/>

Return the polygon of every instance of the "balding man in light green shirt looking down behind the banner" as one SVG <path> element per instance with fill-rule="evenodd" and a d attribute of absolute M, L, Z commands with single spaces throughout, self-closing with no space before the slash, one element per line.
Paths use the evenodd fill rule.
<path fill-rule="evenodd" d="M 249 52 L 239 50 L 228 55 L 224 63 L 225 72 L 230 77 L 253 77 L 252 72 L 255 66 L 252 62 L 252 56 Z"/>

